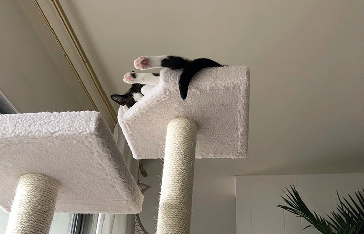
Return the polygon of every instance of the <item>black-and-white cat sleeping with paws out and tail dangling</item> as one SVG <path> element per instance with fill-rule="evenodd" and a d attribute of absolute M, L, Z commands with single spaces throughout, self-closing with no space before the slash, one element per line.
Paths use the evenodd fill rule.
<path fill-rule="evenodd" d="M 198 58 L 188 60 L 178 56 L 154 56 L 139 57 L 134 61 L 134 66 L 140 70 L 152 68 L 168 67 L 172 70 L 183 69 L 179 79 L 179 91 L 183 100 L 187 97 L 188 86 L 192 77 L 203 68 L 220 67 L 219 63 L 207 59 Z M 131 88 L 125 94 L 113 94 L 111 99 L 119 105 L 132 107 L 139 101 L 143 95 L 148 93 L 159 82 L 158 73 L 135 73 L 134 71 L 126 73 L 123 78 L 124 82 L 132 84 Z"/>

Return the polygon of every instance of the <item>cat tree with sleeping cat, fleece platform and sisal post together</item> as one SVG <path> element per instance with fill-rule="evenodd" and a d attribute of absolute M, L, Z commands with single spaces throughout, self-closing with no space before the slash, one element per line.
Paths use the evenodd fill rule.
<path fill-rule="evenodd" d="M 118 120 L 136 159 L 163 158 L 157 234 L 190 231 L 195 158 L 244 158 L 247 154 L 249 70 L 203 69 L 186 100 L 181 70 L 163 69 L 160 82 Z M 167 132 L 167 134 L 166 134 Z"/>

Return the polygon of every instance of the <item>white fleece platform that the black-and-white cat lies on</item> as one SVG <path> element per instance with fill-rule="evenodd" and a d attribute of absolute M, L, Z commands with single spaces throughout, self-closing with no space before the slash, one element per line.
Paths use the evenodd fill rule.
<path fill-rule="evenodd" d="M 197 123 L 196 158 L 245 158 L 248 146 L 249 69 L 206 68 L 193 77 L 186 100 L 178 91 L 182 70 L 163 69 L 160 82 L 118 121 L 136 159 L 163 158 L 167 123 Z"/>

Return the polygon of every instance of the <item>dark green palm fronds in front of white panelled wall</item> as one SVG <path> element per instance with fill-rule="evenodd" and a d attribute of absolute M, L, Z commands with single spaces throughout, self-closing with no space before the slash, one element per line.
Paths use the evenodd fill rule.
<path fill-rule="evenodd" d="M 318 215 L 315 211 L 310 211 L 306 204 L 302 201 L 296 188 L 291 186 L 289 191 L 286 188 L 283 191 L 287 198 L 281 196 L 288 206 L 277 205 L 278 207 L 287 210 L 298 217 L 306 219 L 311 225 L 306 226 L 314 227 L 318 231 L 324 234 L 363 234 L 364 233 L 364 189 L 355 193 L 358 202 L 349 195 L 350 201 L 344 197 L 340 199 L 339 194 L 336 192 L 339 198 L 339 204 L 337 206 L 337 212 L 331 211 L 331 216 L 325 219 Z M 361 192 L 361 193 L 360 193 Z"/>

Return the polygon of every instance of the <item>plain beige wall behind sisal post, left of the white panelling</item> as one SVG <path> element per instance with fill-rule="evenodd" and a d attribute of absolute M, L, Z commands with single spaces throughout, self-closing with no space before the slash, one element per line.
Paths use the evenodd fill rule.
<path fill-rule="evenodd" d="M 148 177 L 141 183 L 151 186 L 144 193 L 140 219 L 149 233 L 155 233 L 158 215 L 158 199 L 161 185 L 163 161 L 143 160 Z M 205 160 L 195 161 L 195 177 L 192 202 L 191 234 L 235 234 L 235 192 L 232 175 L 214 174 L 215 168 L 206 172 Z"/>

